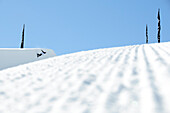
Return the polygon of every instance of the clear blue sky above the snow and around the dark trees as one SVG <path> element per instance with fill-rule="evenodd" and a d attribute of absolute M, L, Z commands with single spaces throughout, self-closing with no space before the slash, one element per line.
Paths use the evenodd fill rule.
<path fill-rule="evenodd" d="M 170 41 L 170 0 L 0 0 L 0 48 L 18 48 L 26 24 L 25 47 L 50 48 L 57 55 Z"/>

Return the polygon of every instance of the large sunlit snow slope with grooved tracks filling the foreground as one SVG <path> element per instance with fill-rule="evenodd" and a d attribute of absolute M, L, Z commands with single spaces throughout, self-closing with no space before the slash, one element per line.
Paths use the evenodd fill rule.
<path fill-rule="evenodd" d="M 0 71 L 0 113 L 170 113 L 169 50 L 98 49 Z"/>

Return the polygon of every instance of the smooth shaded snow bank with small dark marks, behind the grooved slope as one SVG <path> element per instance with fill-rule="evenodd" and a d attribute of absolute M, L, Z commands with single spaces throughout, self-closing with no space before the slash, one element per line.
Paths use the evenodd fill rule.
<path fill-rule="evenodd" d="M 55 53 L 50 49 L 0 49 L 0 70 L 53 56 Z"/>

